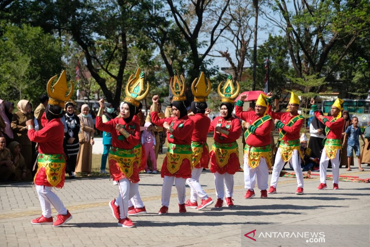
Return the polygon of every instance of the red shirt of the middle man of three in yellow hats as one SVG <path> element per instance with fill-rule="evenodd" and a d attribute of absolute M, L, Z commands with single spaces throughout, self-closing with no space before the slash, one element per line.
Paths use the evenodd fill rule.
<path fill-rule="evenodd" d="M 300 129 L 302 128 L 304 119 L 297 120 L 291 127 L 286 126 L 291 119 L 299 114 L 291 116 L 289 111 L 287 112 L 274 112 L 271 110 L 271 106 L 268 107 L 267 114 L 269 114 L 273 119 L 279 119 L 285 126 L 283 130 L 286 132 L 283 141 L 293 141 L 299 139 Z"/>

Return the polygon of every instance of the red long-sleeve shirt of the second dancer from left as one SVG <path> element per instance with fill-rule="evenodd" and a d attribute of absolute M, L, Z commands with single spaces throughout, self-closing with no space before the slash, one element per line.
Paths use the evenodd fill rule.
<path fill-rule="evenodd" d="M 129 123 L 122 118 L 115 118 L 106 123 L 103 123 L 101 117 L 96 117 L 96 128 L 105 132 L 109 132 L 112 135 L 112 146 L 122 149 L 132 149 L 140 142 L 140 122 L 139 117 L 134 116 Z M 130 136 L 124 140 L 118 140 L 120 133 L 115 129 L 116 124 L 124 125 L 124 129 L 130 133 Z"/>

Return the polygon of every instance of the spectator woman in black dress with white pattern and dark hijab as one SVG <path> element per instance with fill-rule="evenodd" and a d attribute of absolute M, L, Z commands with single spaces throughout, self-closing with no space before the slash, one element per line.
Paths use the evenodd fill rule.
<path fill-rule="evenodd" d="M 67 155 L 67 167 L 65 171 L 71 178 L 75 178 L 77 154 L 80 150 L 78 133 L 80 132 L 80 118 L 74 114 L 74 104 L 68 102 L 65 105 L 64 120 L 67 132 L 64 133 L 64 147 Z"/>

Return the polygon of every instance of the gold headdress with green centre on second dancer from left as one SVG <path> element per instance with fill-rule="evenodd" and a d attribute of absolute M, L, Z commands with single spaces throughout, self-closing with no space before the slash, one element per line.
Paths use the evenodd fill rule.
<path fill-rule="evenodd" d="M 147 89 L 144 91 L 144 76 L 145 72 L 140 68 L 136 69 L 135 76 L 131 74 L 125 87 L 126 97 L 124 101 L 139 107 L 140 100 L 144 99 L 149 92 L 149 82 L 147 82 Z"/>

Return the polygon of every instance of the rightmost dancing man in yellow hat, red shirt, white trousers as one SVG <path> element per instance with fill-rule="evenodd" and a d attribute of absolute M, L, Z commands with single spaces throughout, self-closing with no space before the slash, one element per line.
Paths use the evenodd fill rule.
<path fill-rule="evenodd" d="M 329 164 L 329 160 L 332 161 L 333 168 L 333 190 L 339 189 L 339 158 L 340 150 L 342 149 L 342 130 L 344 126 L 344 119 L 341 117 L 343 102 L 344 101 L 341 99 L 336 99 L 332 105 L 332 109 L 330 110 L 332 116 L 328 117 L 320 114 L 319 110 L 317 109 L 317 105 L 315 105 L 314 99 L 311 99 L 310 101 L 316 118 L 326 126 L 326 138 L 324 139 L 325 144 L 320 158 L 320 185 L 317 187 L 317 190 L 323 190 L 324 188 L 327 188 L 326 168 Z"/>

